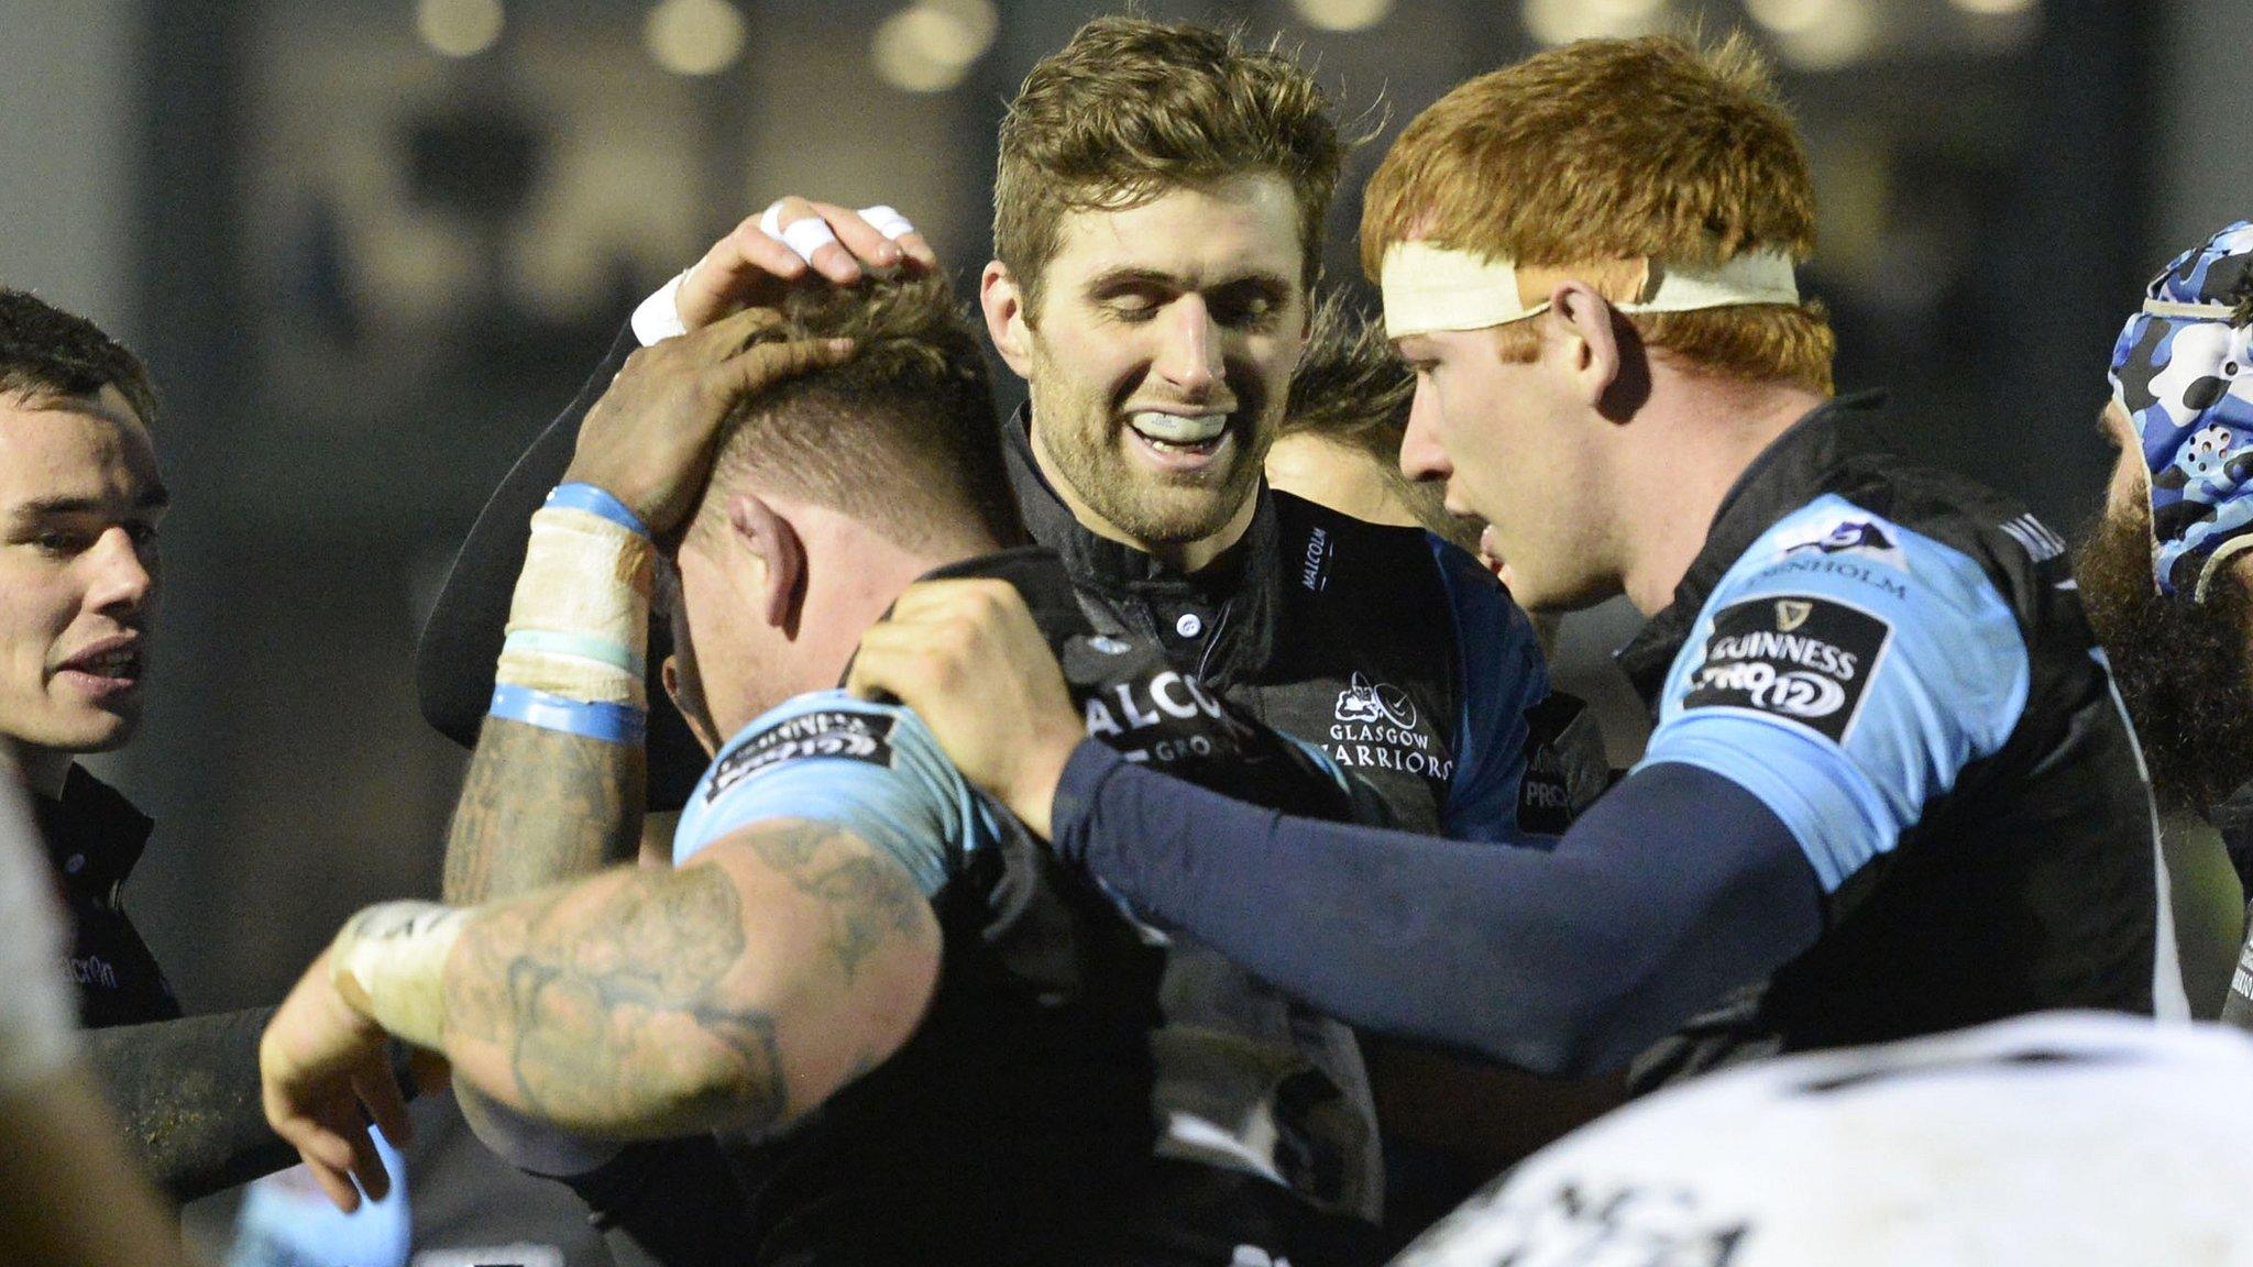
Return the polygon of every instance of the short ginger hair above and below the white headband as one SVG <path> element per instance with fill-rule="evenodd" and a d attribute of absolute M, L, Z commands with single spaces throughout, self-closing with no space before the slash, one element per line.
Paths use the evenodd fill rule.
<path fill-rule="evenodd" d="M 1582 41 L 1458 86 L 1417 115 L 1370 178 L 1361 266 L 1424 239 L 1528 266 L 1651 257 L 1805 262 L 1814 178 L 1760 52 L 1674 36 Z M 1633 313 L 1651 347 L 1739 379 L 1832 390 L 1818 302 Z"/>

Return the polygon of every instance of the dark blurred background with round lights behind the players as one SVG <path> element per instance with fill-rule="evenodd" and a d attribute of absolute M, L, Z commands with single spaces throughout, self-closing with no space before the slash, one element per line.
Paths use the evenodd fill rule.
<path fill-rule="evenodd" d="M 1097 11 L 0 0 L 0 282 L 124 336 L 167 399 L 155 708 L 106 771 L 160 821 L 131 904 L 192 1010 L 273 1001 L 345 913 L 435 891 L 462 757 L 415 712 L 415 633 L 633 302 L 784 192 L 892 203 L 971 282 L 1000 104 Z M 1906 444 L 2061 530 L 2138 286 L 2253 212 L 2244 0 L 1147 11 L 1280 32 L 1383 138 L 1543 43 L 1753 32 L 1816 165 L 1841 388 L 1890 388 Z M 1577 618 L 1561 674 L 1604 694 L 1629 627 Z"/>

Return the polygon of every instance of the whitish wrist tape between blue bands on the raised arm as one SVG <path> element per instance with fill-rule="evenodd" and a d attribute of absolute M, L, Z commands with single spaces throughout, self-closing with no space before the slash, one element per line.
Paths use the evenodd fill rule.
<path fill-rule="evenodd" d="M 638 665 L 649 647 L 651 568 L 649 539 L 599 514 L 534 514 L 493 681 L 647 708 Z"/>

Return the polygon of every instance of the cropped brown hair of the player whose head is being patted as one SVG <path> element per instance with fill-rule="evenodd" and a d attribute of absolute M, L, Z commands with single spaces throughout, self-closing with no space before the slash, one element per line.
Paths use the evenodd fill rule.
<path fill-rule="evenodd" d="M 852 338 L 728 419 L 712 485 L 750 478 L 917 546 L 964 523 L 1023 537 L 978 327 L 944 275 L 795 291 L 753 343 Z M 710 498 L 707 498 L 710 500 Z"/>

